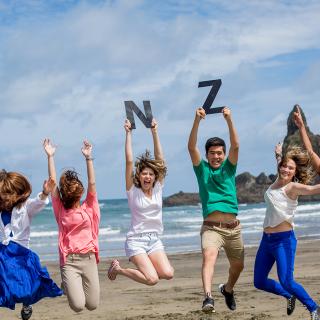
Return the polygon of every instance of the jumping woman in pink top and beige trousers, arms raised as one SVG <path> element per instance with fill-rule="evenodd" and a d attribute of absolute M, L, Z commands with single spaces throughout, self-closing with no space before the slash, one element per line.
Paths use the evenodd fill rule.
<path fill-rule="evenodd" d="M 43 142 L 48 156 L 49 176 L 56 181 L 53 156 L 56 148 L 49 139 Z M 59 228 L 59 254 L 62 286 L 70 308 L 80 312 L 99 305 L 100 286 L 98 232 L 100 209 L 96 193 L 92 145 L 83 142 L 81 149 L 87 164 L 87 197 L 81 204 L 84 187 L 75 171 L 65 171 L 51 192 L 52 207 Z"/>

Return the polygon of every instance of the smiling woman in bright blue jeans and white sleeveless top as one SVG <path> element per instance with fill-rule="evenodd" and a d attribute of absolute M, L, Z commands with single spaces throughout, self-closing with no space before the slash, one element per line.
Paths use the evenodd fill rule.
<path fill-rule="evenodd" d="M 254 286 L 285 297 L 288 315 L 292 314 L 298 299 L 309 310 L 311 319 L 316 320 L 320 319 L 318 305 L 293 277 L 297 246 L 293 218 L 298 196 L 320 194 L 320 185 L 307 185 L 314 176 L 307 152 L 293 147 L 284 157 L 278 156 L 278 177 L 264 195 L 267 209 L 254 266 Z M 268 278 L 274 263 L 279 282 Z"/>

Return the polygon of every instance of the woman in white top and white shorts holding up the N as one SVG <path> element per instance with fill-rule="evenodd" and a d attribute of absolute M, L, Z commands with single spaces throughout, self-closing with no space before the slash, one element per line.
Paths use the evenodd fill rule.
<path fill-rule="evenodd" d="M 159 239 L 162 234 L 162 188 L 167 168 L 157 132 L 157 122 L 152 120 L 151 133 L 154 144 L 152 159 L 148 151 L 135 162 L 131 142 L 131 123 L 125 121 L 126 131 L 126 190 L 131 211 L 131 227 L 125 243 L 126 255 L 137 269 L 122 268 L 118 260 L 111 262 L 108 278 L 115 280 L 117 275 L 134 281 L 155 285 L 160 279 L 170 280 L 174 270 Z"/>

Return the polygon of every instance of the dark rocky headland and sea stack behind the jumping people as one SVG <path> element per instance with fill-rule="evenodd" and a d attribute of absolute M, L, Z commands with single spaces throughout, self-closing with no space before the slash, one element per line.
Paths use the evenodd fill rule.
<path fill-rule="evenodd" d="M 299 129 L 295 125 L 293 120 L 293 112 L 295 107 L 289 114 L 287 120 L 287 135 L 283 140 L 284 151 L 290 145 L 302 145 Z M 313 134 L 306 121 L 303 110 L 300 108 L 302 118 L 305 123 L 310 141 L 312 143 L 313 150 L 320 155 L 320 135 Z M 270 184 L 276 179 L 275 174 L 266 175 L 264 172 L 260 173 L 257 177 L 253 176 L 249 172 L 244 172 L 236 177 L 237 195 L 239 203 L 259 203 L 263 202 L 263 195 L 268 189 Z M 320 178 L 317 177 L 316 183 L 320 183 Z M 300 201 L 320 201 L 320 196 L 303 196 Z M 198 193 L 186 193 L 180 191 L 163 200 L 163 204 L 166 207 L 182 206 L 182 205 L 198 205 L 200 198 Z"/>

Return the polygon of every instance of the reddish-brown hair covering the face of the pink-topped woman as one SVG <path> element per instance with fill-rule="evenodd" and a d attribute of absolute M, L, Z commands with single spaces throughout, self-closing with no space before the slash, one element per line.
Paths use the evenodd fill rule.
<path fill-rule="evenodd" d="M 74 170 L 66 170 L 60 177 L 59 192 L 65 209 L 73 208 L 80 201 L 84 187 Z"/>

